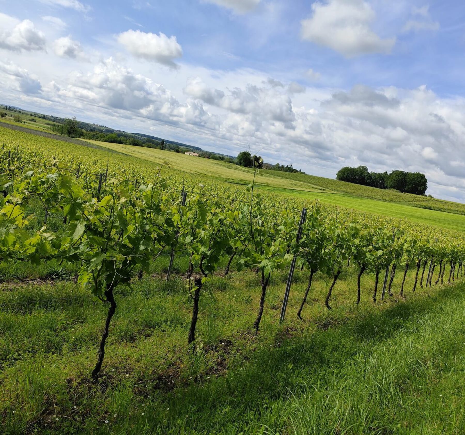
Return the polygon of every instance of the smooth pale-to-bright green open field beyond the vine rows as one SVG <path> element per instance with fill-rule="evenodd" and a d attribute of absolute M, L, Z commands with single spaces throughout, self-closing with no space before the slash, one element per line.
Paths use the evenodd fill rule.
<path fill-rule="evenodd" d="M 198 158 L 152 148 L 110 144 L 99 141 L 88 142 L 118 152 L 123 152 L 133 157 L 148 160 L 157 165 L 162 165 L 164 162 L 167 162 L 173 169 L 196 175 L 203 175 L 209 178 L 216 178 L 228 183 L 248 185 L 253 180 L 254 171 L 252 169 L 243 168 L 231 163 L 221 162 L 219 160 Z M 309 177 L 311 180 L 315 179 L 315 182 L 318 182 L 320 186 L 312 185 L 308 181 L 305 181 Z M 299 178 L 299 180 L 295 180 L 293 178 Z M 324 180 L 327 180 L 326 182 L 331 189 L 326 189 L 322 186 Z M 321 202 L 327 204 L 340 205 L 342 207 L 368 211 L 394 218 L 407 218 L 414 222 L 435 225 L 457 231 L 465 231 L 465 215 L 415 207 L 412 205 L 414 204 L 413 200 L 423 199 L 423 197 L 419 198 L 415 195 L 382 191 L 372 187 L 350 185 L 350 183 L 321 177 L 311 177 L 303 174 L 284 174 L 278 171 L 259 171 L 259 174 L 256 176 L 256 184 L 259 189 L 274 191 L 283 195 L 306 199 L 319 199 Z M 348 191 L 360 191 L 364 197 L 356 196 L 353 193 L 339 192 L 336 190 L 337 188 L 344 189 L 346 191 L 348 189 L 352 189 Z M 383 195 L 386 198 L 387 195 L 393 196 L 393 199 L 396 202 L 373 199 L 378 198 L 378 196 L 383 197 Z M 366 198 L 366 196 L 371 196 L 372 198 Z M 430 198 L 425 199 L 430 200 Z M 401 200 L 404 202 L 401 202 Z M 430 201 L 434 201 L 433 204 L 436 204 L 438 207 L 442 207 L 443 204 L 452 204 L 448 205 L 448 207 L 458 210 L 464 208 L 465 210 L 465 206 L 463 204 L 441 200 Z"/>

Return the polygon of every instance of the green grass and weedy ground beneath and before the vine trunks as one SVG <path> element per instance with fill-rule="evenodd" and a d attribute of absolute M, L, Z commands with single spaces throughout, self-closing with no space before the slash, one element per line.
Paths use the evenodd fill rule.
<path fill-rule="evenodd" d="M 99 384 L 89 381 L 106 307 L 70 282 L 0 292 L 0 418 L 5 433 L 436 434 L 465 429 L 464 285 L 371 300 L 373 277 L 349 268 L 326 310 L 316 275 L 299 321 L 307 273 L 295 275 L 283 325 L 286 273 L 276 273 L 260 333 L 259 279 L 216 276 L 200 299 L 197 350 L 186 343 L 191 301 L 168 257 L 118 290 Z M 175 259 L 175 272 L 187 266 Z M 17 267 L 22 276 L 26 266 Z M 56 264 L 45 264 L 46 279 Z M 5 267 L 1 270 L 5 273 Z M 69 270 L 69 274 L 73 271 Z M 447 273 L 445 275 L 447 277 Z M 53 301 L 49 299 L 55 298 Z M 57 299 L 58 298 L 58 299 Z M 14 411 L 14 412 L 13 412 Z"/>

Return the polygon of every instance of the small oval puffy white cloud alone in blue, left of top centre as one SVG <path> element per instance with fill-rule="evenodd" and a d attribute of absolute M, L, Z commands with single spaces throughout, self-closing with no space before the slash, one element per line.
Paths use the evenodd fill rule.
<path fill-rule="evenodd" d="M 174 59 L 182 56 L 182 48 L 175 36 L 168 38 L 164 33 L 145 33 L 128 30 L 117 36 L 118 42 L 134 56 L 175 67 Z"/>

